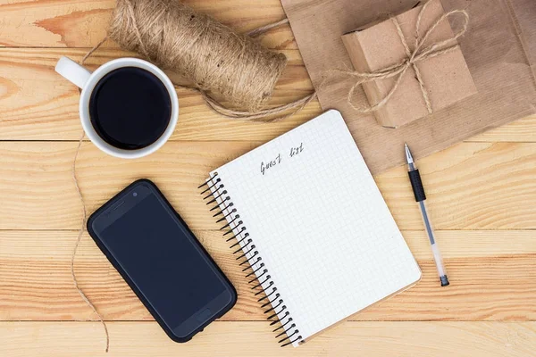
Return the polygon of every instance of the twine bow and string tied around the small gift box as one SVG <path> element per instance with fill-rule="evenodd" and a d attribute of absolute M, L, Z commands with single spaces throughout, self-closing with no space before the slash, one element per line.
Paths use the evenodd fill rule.
<path fill-rule="evenodd" d="M 360 71 L 338 71 L 343 74 L 347 74 L 351 77 L 354 77 L 357 79 L 356 83 L 352 85 L 350 90 L 348 91 L 348 104 L 352 106 L 357 112 L 374 112 L 380 109 L 382 106 L 387 104 L 389 102 L 389 99 L 394 95 L 394 93 L 397 91 L 398 86 L 400 85 L 400 82 L 402 79 L 404 79 L 404 76 L 406 75 L 406 72 L 409 68 L 413 68 L 415 71 L 415 78 L 419 82 L 419 87 L 421 88 L 421 92 L 423 93 L 423 99 L 424 103 L 426 104 L 426 108 L 428 110 L 428 113 L 431 114 L 433 112 L 430 98 L 428 96 L 428 92 L 426 91 L 426 87 L 423 82 L 423 78 L 421 76 L 421 71 L 419 71 L 419 68 L 417 67 L 417 63 L 424 61 L 426 59 L 438 56 L 440 54 L 448 54 L 449 52 L 452 52 L 459 48 L 459 45 L 457 44 L 456 39 L 458 37 L 461 37 L 465 34 L 465 31 L 467 30 L 467 25 L 469 23 L 469 14 L 465 12 L 465 10 L 453 10 L 451 12 L 444 13 L 440 19 L 435 21 L 430 29 L 426 30 L 423 35 L 420 34 L 420 26 L 421 26 L 421 20 L 423 18 L 423 13 L 426 11 L 426 8 L 430 2 L 427 2 L 426 4 L 423 4 L 423 8 L 419 12 L 419 15 L 417 17 L 417 22 L 415 25 L 415 49 L 413 52 L 409 49 L 409 46 L 407 46 L 406 38 L 404 37 L 404 34 L 402 32 L 402 29 L 400 28 L 400 24 L 398 23 L 398 20 L 396 17 L 391 17 L 389 20 L 393 22 L 395 25 L 395 28 L 397 29 L 398 37 L 400 37 L 400 42 L 402 42 L 402 45 L 404 46 L 404 49 L 406 51 L 406 59 L 398 62 L 396 64 L 393 64 L 389 67 L 383 68 L 378 71 L 373 72 L 360 72 Z M 431 33 L 440 25 L 442 21 L 446 21 L 449 16 L 455 15 L 456 13 L 461 13 L 464 16 L 464 26 L 461 30 L 457 31 L 454 37 L 450 37 L 446 40 L 442 40 L 439 42 L 436 42 L 432 44 L 431 46 L 427 46 L 423 48 L 423 44 L 426 42 L 428 37 L 430 37 Z M 451 44 L 451 46 L 448 46 Z M 448 47 L 444 47 L 448 46 Z M 389 90 L 389 93 L 385 95 L 380 102 L 377 104 L 373 104 L 368 107 L 363 106 L 357 106 L 354 104 L 354 94 L 356 92 L 356 88 L 361 86 L 364 83 L 372 82 L 377 79 L 389 79 L 397 77 L 397 80 L 395 81 L 395 84 L 393 87 Z"/>

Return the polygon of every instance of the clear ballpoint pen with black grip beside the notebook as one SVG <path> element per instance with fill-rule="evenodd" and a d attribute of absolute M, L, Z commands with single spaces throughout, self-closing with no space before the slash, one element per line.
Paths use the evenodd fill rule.
<path fill-rule="evenodd" d="M 413 156 L 409 151 L 409 147 L 406 145 L 406 161 L 407 161 L 407 174 L 409 175 L 409 180 L 411 181 L 411 187 L 413 188 L 415 201 L 419 203 L 419 209 L 421 210 L 421 216 L 423 217 L 424 228 L 428 239 L 430 239 L 431 244 L 431 253 L 433 253 L 433 260 L 436 263 L 438 268 L 438 274 L 440 275 L 441 286 L 448 286 L 447 272 L 445 271 L 445 266 L 443 266 L 443 259 L 441 258 L 440 248 L 437 245 L 436 237 L 431 227 L 430 217 L 428 216 L 428 211 L 426 210 L 426 195 L 424 194 L 423 182 L 421 181 L 421 175 L 419 170 L 415 166 Z"/>

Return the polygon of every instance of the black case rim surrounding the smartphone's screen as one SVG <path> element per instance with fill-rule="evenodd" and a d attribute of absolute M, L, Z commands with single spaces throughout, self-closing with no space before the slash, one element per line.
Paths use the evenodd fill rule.
<path fill-rule="evenodd" d="M 224 285 L 226 286 L 227 289 L 229 289 L 229 292 L 230 292 L 230 295 L 231 295 L 231 301 L 230 303 L 225 306 L 221 312 L 219 312 L 217 315 L 215 315 L 214 317 L 208 319 L 208 320 L 205 320 L 203 322 L 201 322 L 199 324 L 199 326 L 197 326 L 195 328 L 195 330 L 188 336 L 184 336 L 184 337 L 180 337 L 180 336 L 175 336 L 173 334 L 173 331 L 168 328 L 166 326 L 166 324 L 163 322 L 163 320 L 160 319 L 160 317 L 158 316 L 158 314 L 156 313 L 155 309 L 153 308 L 153 306 L 151 305 L 151 303 L 149 303 L 149 301 L 147 301 L 147 299 L 141 294 L 141 292 L 138 290 L 138 287 L 136 287 L 133 282 L 130 280 L 129 276 L 126 274 L 126 272 L 124 270 L 121 269 L 121 266 L 118 264 L 118 262 L 115 260 L 115 258 L 113 257 L 113 254 L 110 253 L 108 251 L 108 249 L 105 247 L 105 245 L 100 241 L 100 239 L 96 236 L 96 232 L 93 231 L 93 228 L 92 228 L 92 221 L 96 219 L 96 217 L 98 217 L 101 213 L 105 212 L 107 208 L 109 208 L 110 206 L 112 206 L 120 197 L 121 195 L 123 194 L 124 191 L 127 191 L 127 190 L 130 190 L 131 187 L 135 187 L 137 186 L 138 184 L 140 183 L 146 183 L 148 184 L 155 192 L 156 195 L 160 195 L 160 197 L 163 199 L 163 202 L 166 203 L 169 208 L 172 210 L 172 212 L 174 212 L 175 214 L 175 217 L 177 220 L 180 221 L 180 224 L 182 224 L 184 227 L 188 228 L 188 225 L 184 222 L 184 220 L 182 220 L 182 218 L 180 217 L 179 213 L 177 213 L 175 211 L 175 209 L 173 209 L 172 207 L 172 204 L 169 203 L 169 201 L 165 198 L 165 196 L 162 194 L 162 192 L 158 189 L 158 187 L 156 187 L 155 183 L 153 183 L 153 181 L 149 180 L 149 179 L 138 179 L 134 182 L 132 182 L 128 187 L 125 187 L 121 190 L 120 193 L 118 193 L 117 195 L 114 195 L 112 199 L 110 199 L 108 202 L 106 202 L 105 204 L 103 204 L 99 209 L 96 210 L 96 212 L 93 212 L 93 214 L 91 214 L 91 216 L 89 217 L 88 219 L 88 224 L 87 224 L 87 228 L 88 228 L 88 233 L 89 233 L 89 236 L 91 236 L 93 238 L 93 240 L 95 241 L 96 245 L 99 247 L 99 249 L 105 253 L 105 256 L 106 258 L 108 258 L 108 261 L 110 261 L 113 265 L 113 268 L 115 268 L 115 270 L 117 270 L 120 274 L 121 274 L 121 277 L 127 282 L 127 284 L 129 284 L 130 288 L 132 289 L 132 291 L 134 292 L 134 294 L 136 294 L 138 296 L 138 299 L 145 305 L 145 307 L 147 308 L 147 310 L 151 313 L 151 315 L 153 316 L 153 318 L 155 318 L 156 322 L 158 322 L 158 324 L 160 325 L 161 328 L 163 328 L 163 330 L 165 331 L 165 333 L 175 342 L 178 342 L 178 343 L 185 343 L 185 342 L 188 342 L 193 336 L 195 336 L 198 332 L 201 332 L 203 331 L 203 329 L 208 325 L 210 324 L 211 322 L 213 322 L 214 320 L 216 319 L 219 319 L 221 318 L 225 313 L 227 313 L 227 311 L 230 311 L 230 309 L 235 305 L 235 303 L 237 302 L 237 298 L 238 298 L 238 295 L 237 295 L 237 291 L 235 289 L 235 287 L 230 283 L 230 280 L 229 278 L 227 278 L 225 276 L 225 274 L 223 273 L 223 271 L 220 269 L 220 267 L 218 266 L 218 264 L 216 264 L 216 262 L 214 262 L 214 259 L 212 259 L 212 257 L 210 256 L 209 253 L 206 252 L 205 250 L 205 247 L 203 245 L 201 245 L 201 243 L 199 243 L 199 241 L 197 240 L 197 237 L 193 234 L 193 232 L 191 231 L 190 228 L 188 228 L 188 231 L 191 233 L 192 237 L 194 237 L 194 242 L 195 244 L 197 244 L 197 246 L 200 248 L 200 250 L 205 253 L 206 257 L 208 258 L 208 261 L 209 262 L 212 262 L 213 266 L 214 266 L 214 269 L 217 270 L 221 275 L 222 275 L 222 278 L 224 280 Z"/>

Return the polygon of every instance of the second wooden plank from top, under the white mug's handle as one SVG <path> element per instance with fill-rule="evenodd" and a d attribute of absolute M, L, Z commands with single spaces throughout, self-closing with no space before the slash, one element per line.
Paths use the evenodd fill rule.
<path fill-rule="evenodd" d="M 80 92 L 54 71 L 62 55 L 79 61 L 88 49 L 0 49 L 0 140 L 78 140 Z M 297 50 L 289 57 L 270 104 L 286 104 L 308 95 L 312 85 Z M 119 50 L 98 51 L 88 66 L 132 55 Z M 179 76 L 172 79 L 184 83 Z M 252 124 L 224 118 L 210 111 L 200 95 L 179 89 L 180 118 L 172 140 L 262 140 L 277 137 L 320 113 L 317 102 L 287 120 Z"/>

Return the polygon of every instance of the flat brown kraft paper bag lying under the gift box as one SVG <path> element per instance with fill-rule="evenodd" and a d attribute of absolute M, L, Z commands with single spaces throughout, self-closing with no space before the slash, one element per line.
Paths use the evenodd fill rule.
<path fill-rule="evenodd" d="M 353 79 L 324 78 L 331 70 L 352 68 L 342 34 L 403 11 L 415 0 L 281 2 L 322 108 L 342 112 L 373 174 L 405 162 L 404 142 L 419 158 L 536 112 L 534 0 L 441 0 L 446 12 L 469 12 L 469 30 L 458 42 L 478 94 L 398 129 L 383 128 L 372 114 L 348 105 Z M 451 21 L 455 31 L 458 25 Z M 366 103 L 363 91 L 357 95 Z"/>

